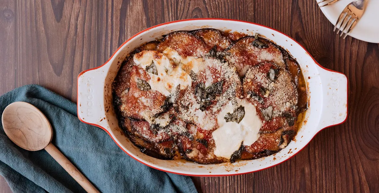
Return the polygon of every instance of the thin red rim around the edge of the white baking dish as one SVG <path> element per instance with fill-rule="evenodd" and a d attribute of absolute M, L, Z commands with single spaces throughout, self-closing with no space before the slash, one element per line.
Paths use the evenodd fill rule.
<path fill-rule="evenodd" d="M 138 36 L 139 34 L 145 32 L 145 31 L 147 31 L 147 30 L 149 30 L 149 29 L 156 28 L 156 27 L 158 27 L 158 26 L 162 26 L 162 25 L 166 25 L 166 24 L 170 24 L 170 23 L 185 22 L 185 21 L 193 21 L 193 20 L 225 20 L 225 21 L 233 21 L 233 22 L 243 22 L 243 23 L 254 24 L 254 25 L 262 26 L 262 27 L 265 27 L 265 28 L 268 28 L 268 29 L 272 29 L 272 30 L 274 30 L 274 31 L 276 31 L 276 32 L 279 32 L 280 34 L 283 34 L 284 36 L 287 36 L 288 38 L 290 38 L 291 40 L 293 40 L 294 42 L 296 42 L 298 45 L 300 45 L 300 46 L 301 46 L 301 47 L 307 52 L 307 54 L 313 59 L 313 61 L 314 61 L 318 66 L 320 66 L 321 68 L 323 68 L 323 69 L 325 69 L 325 70 L 327 70 L 327 71 L 330 71 L 330 72 L 343 74 L 343 73 L 340 73 L 340 72 L 337 72 L 337 71 L 334 71 L 334 70 L 331 70 L 331 69 L 327 69 L 327 68 L 325 68 L 324 66 L 321 66 L 321 65 L 320 65 L 320 64 L 319 64 L 319 63 L 318 63 L 318 62 L 317 62 L 317 61 L 316 61 L 316 60 L 310 55 L 310 53 L 308 52 L 308 50 L 304 48 L 304 46 L 302 46 L 299 42 L 297 42 L 296 40 L 294 40 L 293 38 L 291 38 L 291 37 L 288 36 L 287 34 L 284 34 L 283 32 L 280 32 L 280 31 L 278 31 L 278 30 L 276 30 L 276 29 L 270 28 L 270 27 L 268 27 L 268 26 L 260 25 L 260 24 L 258 24 L 258 23 L 246 22 L 246 21 L 235 20 L 235 19 L 222 19 L 222 18 L 197 18 L 197 19 L 182 19 L 182 20 L 175 20 L 175 21 L 171 21 L 171 22 L 161 23 L 161 24 L 158 24 L 158 25 L 152 26 L 152 27 L 150 27 L 150 28 L 146 28 L 146 29 L 144 29 L 143 31 L 138 32 L 138 33 L 135 34 L 134 36 L 132 36 L 132 37 L 130 37 L 129 39 L 127 39 L 124 43 L 122 43 L 121 46 L 119 46 L 119 47 L 116 49 L 116 51 L 114 51 L 114 53 L 112 54 L 112 56 L 111 56 L 111 57 L 110 57 L 110 58 L 109 58 L 109 59 L 108 59 L 103 65 L 101 65 L 101 66 L 97 66 L 97 67 L 95 67 L 95 68 L 87 69 L 87 70 L 85 70 L 85 71 L 82 71 L 82 72 L 78 75 L 77 82 L 79 83 L 79 77 L 80 77 L 83 73 L 85 73 L 85 72 L 87 72 L 87 71 L 90 71 L 90 70 L 94 70 L 94 69 L 100 68 L 100 67 L 104 66 L 106 63 L 108 63 L 108 62 L 111 60 L 111 58 L 113 58 L 114 54 L 116 54 L 116 52 L 117 52 L 119 49 L 121 49 L 122 46 L 125 45 L 125 43 L 129 42 L 130 40 L 132 40 L 134 37 Z M 343 75 L 346 77 L 345 74 L 343 74 Z M 349 86 L 348 86 L 348 85 L 349 85 L 349 82 L 347 82 L 347 92 L 346 92 L 346 94 L 347 94 L 348 91 L 349 91 Z M 77 92 L 79 92 L 79 84 L 77 85 Z M 79 93 L 77 93 L 77 96 L 79 96 Z M 319 131 L 318 131 L 318 132 L 312 137 L 312 139 L 313 139 L 313 138 L 314 138 L 314 137 L 315 137 L 320 131 L 324 130 L 325 128 L 333 127 L 333 126 L 335 126 L 335 125 L 340 125 L 340 124 L 343 124 L 343 123 L 346 122 L 346 119 L 348 119 L 348 104 L 349 104 L 349 103 L 348 103 L 348 97 L 346 97 L 346 99 L 347 99 L 347 101 L 346 101 L 346 118 L 345 118 L 345 120 L 344 120 L 343 122 L 339 123 L 339 124 L 334 124 L 334 125 L 330 125 L 330 126 L 324 127 L 323 129 L 319 130 Z M 78 99 L 77 99 L 77 101 L 78 101 Z M 77 105 L 77 111 L 79 110 L 78 108 L 79 108 L 79 106 Z M 97 125 L 97 124 L 91 124 L 91 123 L 85 122 L 84 120 L 82 120 L 82 119 L 80 118 L 79 114 L 78 114 L 78 118 L 79 118 L 79 120 L 80 120 L 81 122 L 83 122 L 83 123 L 86 123 L 86 124 L 89 124 L 89 125 L 94 125 L 94 126 L 96 126 L 96 127 L 102 128 L 106 133 L 108 133 L 109 136 L 111 136 L 112 140 L 117 144 L 118 147 L 120 147 L 120 148 L 122 149 L 122 151 L 124 151 L 126 154 L 128 154 L 130 157 L 132 157 L 132 158 L 135 159 L 136 161 L 140 162 L 141 164 L 147 165 L 147 166 L 152 167 L 152 168 L 157 169 L 157 170 L 161 170 L 161 171 L 165 171 L 165 172 L 169 172 L 169 173 L 174 173 L 174 174 L 185 175 L 185 176 L 202 176 L 202 177 L 235 176 L 235 175 L 248 174 L 248 173 L 253 173 L 253 172 L 256 172 L 256 171 L 265 170 L 265 169 L 267 169 L 267 168 L 274 167 L 274 166 L 276 166 L 276 165 L 279 165 L 279 164 L 281 164 L 281 163 L 287 161 L 287 160 L 290 159 L 291 157 L 293 157 L 293 156 L 295 156 L 296 154 L 298 154 L 301 150 L 303 150 L 303 149 L 309 144 L 310 141 L 312 141 L 312 139 L 310 139 L 310 141 L 309 141 L 306 145 L 304 145 L 304 147 L 302 147 L 298 152 L 294 153 L 292 156 L 288 157 L 287 159 L 285 159 L 285 160 L 283 160 L 283 161 L 281 161 L 281 162 L 279 162 L 279 163 L 277 163 L 277 164 L 275 164 L 275 165 L 270 165 L 270 166 L 268 166 L 268 167 L 266 167 L 266 168 L 262 168 L 262 169 L 260 169 L 260 170 L 254 170 L 254 171 L 249 171 L 249 172 L 244 172 L 244 173 L 235 173 L 235 174 L 214 174 L 214 175 L 212 175 L 212 174 L 204 174 L 204 175 L 202 175 L 202 174 L 200 174 L 200 175 L 196 175 L 196 174 L 184 174 L 184 173 L 177 173 L 177 172 L 173 172 L 173 171 L 167 171 L 167 170 L 163 170 L 163 169 L 160 169 L 160 168 L 156 168 L 156 167 L 153 167 L 153 166 L 151 166 L 151 165 L 149 165 L 149 164 L 147 164 L 147 163 L 145 163 L 145 162 L 139 161 L 137 158 L 133 157 L 131 154 L 129 154 L 127 151 L 125 151 L 125 150 L 124 150 L 124 149 L 123 149 L 123 148 L 122 148 L 122 147 L 116 142 L 116 140 L 113 139 L 112 135 L 111 135 L 111 134 L 109 133 L 109 131 L 107 131 L 104 127 L 102 127 L 102 126 L 100 126 L 100 125 Z"/>

